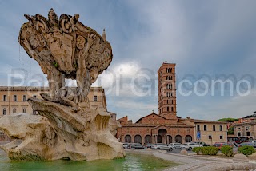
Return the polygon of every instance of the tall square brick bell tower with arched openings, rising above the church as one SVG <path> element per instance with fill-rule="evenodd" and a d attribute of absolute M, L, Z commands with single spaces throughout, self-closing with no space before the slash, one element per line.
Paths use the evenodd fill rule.
<path fill-rule="evenodd" d="M 177 119 L 175 66 L 164 62 L 158 70 L 158 112 L 166 119 Z"/>

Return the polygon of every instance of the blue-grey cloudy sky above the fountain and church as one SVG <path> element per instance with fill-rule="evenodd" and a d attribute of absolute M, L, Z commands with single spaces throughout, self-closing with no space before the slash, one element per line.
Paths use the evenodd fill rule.
<path fill-rule="evenodd" d="M 47 85 L 19 46 L 18 32 L 27 22 L 23 14 L 47 16 L 50 8 L 58 16 L 80 14 L 100 34 L 106 28 L 114 59 L 94 86 L 105 88 L 107 108 L 118 118 L 158 113 L 157 70 L 165 61 L 176 63 L 179 117 L 216 120 L 256 111 L 255 1 L 0 0 L 1 85 Z M 221 89 L 212 85 L 218 81 L 228 83 Z"/>

